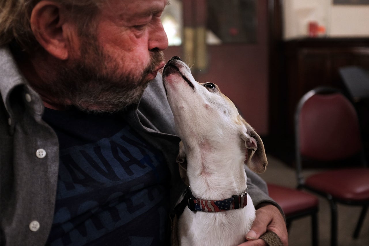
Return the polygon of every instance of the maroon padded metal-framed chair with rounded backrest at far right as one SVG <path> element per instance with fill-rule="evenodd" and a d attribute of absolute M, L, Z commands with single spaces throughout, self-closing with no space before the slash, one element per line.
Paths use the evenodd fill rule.
<path fill-rule="evenodd" d="M 357 238 L 369 205 L 366 167 L 359 120 L 351 101 L 333 88 L 316 88 L 301 98 L 295 114 L 296 172 L 299 188 L 328 199 L 331 245 L 337 245 L 337 202 L 362 206 L 354 232 Z M 304 178 L 303 164 L 328 168 Z"/>

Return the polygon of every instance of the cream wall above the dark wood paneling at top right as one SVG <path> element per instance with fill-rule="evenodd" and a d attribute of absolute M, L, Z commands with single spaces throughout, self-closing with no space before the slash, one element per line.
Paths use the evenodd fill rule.
<path fill-rule="evenodd" d="M 308 23 L 325 28 L 324 37 L 369 36 L 369 5 L 338 5 L 332 0 L 284 0 L 284 39 L 308 36 Z"/>

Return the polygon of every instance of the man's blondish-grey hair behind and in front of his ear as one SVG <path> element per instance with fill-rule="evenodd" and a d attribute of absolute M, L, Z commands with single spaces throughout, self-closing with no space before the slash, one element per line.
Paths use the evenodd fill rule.
<path fill-rule="evenodd" d="M 32 9 L 41 0 L 0 0 L 0 46 L 16 41 L 32 52 L 39 47 L 31 30 Z M 53 0 L 70 10 L 80 35 L 91 31 L 93 18 L 104 0 Z"/>

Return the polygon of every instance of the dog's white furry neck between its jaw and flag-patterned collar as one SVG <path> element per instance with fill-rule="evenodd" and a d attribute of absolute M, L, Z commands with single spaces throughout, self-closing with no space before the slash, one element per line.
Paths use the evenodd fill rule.
<path fill-rule="evenodd" d="M 190 148 L 187 175 L 193 195 L 201 199 L 225 199 L 246 189 L 245 148 L 242 143 L 202 141 Z"/>

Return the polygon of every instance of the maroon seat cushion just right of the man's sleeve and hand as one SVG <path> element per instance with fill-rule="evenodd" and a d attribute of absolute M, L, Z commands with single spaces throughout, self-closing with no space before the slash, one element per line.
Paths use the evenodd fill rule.
<path fill-rule="evenodd" d="M 297 189 L 268 184 L 269 196 L 280 205 L 286 217 L 317 208 L 319 201 L 314 195 Z"/>

